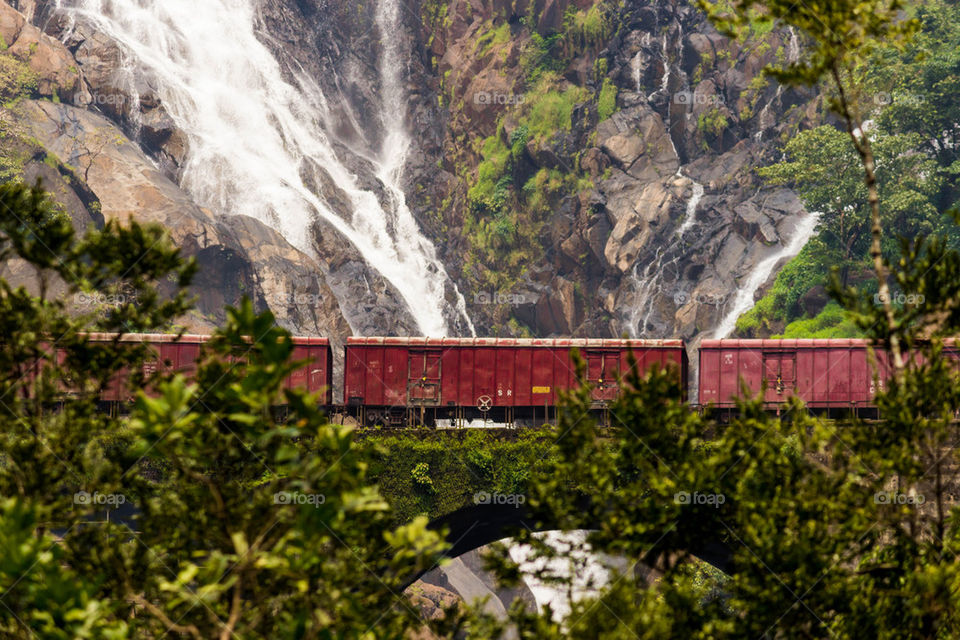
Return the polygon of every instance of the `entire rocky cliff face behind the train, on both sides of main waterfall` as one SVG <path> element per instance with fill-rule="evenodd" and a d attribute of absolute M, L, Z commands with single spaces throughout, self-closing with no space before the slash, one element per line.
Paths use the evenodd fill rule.
<path fill-rule="evenodd" d="M 198 206 L 197 140 L 162 79 L 55 2 L 12 5 L 0 4 L 5 42 L 26 54 L 38 43 L 24 54 L 46 83 L 37 98 L 60 101 L 29 105 L 37 139 L 83 174 L 104 217 L 164 224 L 201 259 L 207 321 L 252 293 L 299 332 L 417 332 L 400 280 L 335 220 L 315 218 L 305 252 Z M 355 177 L 348 189 L 301 161 L 305 188 L 341 220 L 358 215 L 358 189 L 397 210 L 383 155 L 399 114 L 411 144 L 397 182 L 449 275 L 451 332 L 469 331 L 459 288 L 480 334 L 698 337 L 804 216 L 753 171 L 820 117 L 814 96 L 759 76 L 798 55 L 789 33 L 731 42 L 674 0 L 278 0 L 257 3 L 254 20 Z M 387 221 L 395 237 L 398 224 Z"/>

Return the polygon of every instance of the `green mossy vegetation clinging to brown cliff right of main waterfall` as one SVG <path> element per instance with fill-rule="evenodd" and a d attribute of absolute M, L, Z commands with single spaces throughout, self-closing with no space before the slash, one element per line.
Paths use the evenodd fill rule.
<path fill-rule="evenodd" d="M 506 80 L 502 92 L 479 98 L 458 94 L 457 78 L 449 74 L 459 70 L 443 79 L 443 103 L 451 121 L 469 122 L 473 116 L 468 111 L 477 108 L 495 114 L 492 135 L 474 129 L 455 132 L 457 147 L 448 148 L 447 155 L 467 185 L 463 273 L 474 291 L 510 291 L 531 265 L 542 261 L 549 250 L 544 225 L 564 198 L 594 186 L 578 166 L 577 141 L 617 109 L 617 87 L 603 73 L 586 84 L 564 75 L 577 63 L 592 68 L 606 62 L 597 54 L 614 29 L 617 3 L 604 0 L 585 9 L 571 5 L 562 23 L 548 29 L 538 26 L 536 6 L 530 3 L 515 22 L 506 14 L 493 15 L 468 52 L 478 61 L 494 61 Z M 449 11 L 445 2 L 424 5 L 433 33 L 449 27 Z M 454 205 L 453 200 L 444 203 Z M 500 322 L 510 319 L 509 310 L 503 311 L 497 316 Z M 517 330 L 522 331 L 514 324 Z"/>

